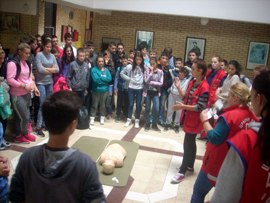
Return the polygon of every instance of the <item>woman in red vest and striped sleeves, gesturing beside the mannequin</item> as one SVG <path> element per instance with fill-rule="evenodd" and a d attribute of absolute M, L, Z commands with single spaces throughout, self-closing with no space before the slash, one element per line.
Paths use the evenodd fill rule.
<path fill-rule="evenodd" d="M 184 156 L 182 166 L 177 167 L 179 173 L 173 178 L 173 182 L 181 182 L 185 178 L 186 171 L 194 172 L 196 157 L 196 135 L 203 129 L 200 113 L 208 107 L 209 85 L 204 79 L 207 65 L 203 60 L 197 60 L 192 64 L 191 74 L 195 80 L 189 82 L 184 104 L 177 102 L 171 108 L 174 111 L 184 109 L 180 123 L 184 121 Z M 185 117 L 185 119 L 183 119 Z"/>

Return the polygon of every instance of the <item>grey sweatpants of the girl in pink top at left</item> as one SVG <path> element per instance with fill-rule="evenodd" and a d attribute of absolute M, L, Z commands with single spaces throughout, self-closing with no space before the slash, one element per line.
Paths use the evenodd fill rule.
<path fill-rule="evenodd" d="M 21 96 L 10 95 L 10 101 L 14 110 L 16 136 L 27 135 L 31 95 L 30 93 Z"/>

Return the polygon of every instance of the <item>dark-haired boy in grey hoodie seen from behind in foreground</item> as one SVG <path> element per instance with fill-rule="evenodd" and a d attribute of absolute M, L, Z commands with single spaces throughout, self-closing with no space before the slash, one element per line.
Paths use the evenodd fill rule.
<path fill-rule="evenodd" d="M 68 140 L 77 125 L 81 99 L 60 90 L 42 105 L 49 142 L 27 148 L 11 179 L 11 202 L 106 203 L 95 162 Z"/>

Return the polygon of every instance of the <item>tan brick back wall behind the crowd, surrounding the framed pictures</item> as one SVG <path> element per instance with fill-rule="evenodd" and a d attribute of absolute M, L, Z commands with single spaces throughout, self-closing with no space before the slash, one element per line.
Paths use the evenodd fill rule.
<path fill-rule="evenodd" d="M 206 38 L 206 63 L 211 63 L 214 55 L 228 61 L 238 60 L 243 66 L 242 73 L 250 78 L 253 77 L 252 70 L 245 69 L 249 41 L 270 42 L 270 25 L 210 19 L 202 26 L 199 18 L 116 11 L 111 15 L 94 14 L 92 40 L 100 51 L 102 37 L 121 39 L 129 52 L 135 46 L 136 29 L 155 32 L 153 47 L 158 50 L 158 55 L 170 46 L 173 55 L 183 60 L 187 36 Z"/>

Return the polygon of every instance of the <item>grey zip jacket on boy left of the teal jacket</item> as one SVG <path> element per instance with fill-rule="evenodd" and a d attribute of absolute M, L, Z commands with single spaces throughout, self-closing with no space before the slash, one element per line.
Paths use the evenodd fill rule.
<path fill-rule="evenodd" d="M 86 62 L 74 60 L 70 63 L 66 76 L 67 87 L 75 91 L 85 90 L 89 86 L 90 71 Z"/>

